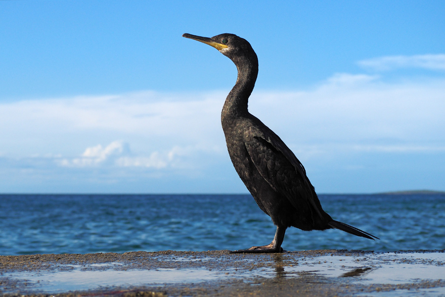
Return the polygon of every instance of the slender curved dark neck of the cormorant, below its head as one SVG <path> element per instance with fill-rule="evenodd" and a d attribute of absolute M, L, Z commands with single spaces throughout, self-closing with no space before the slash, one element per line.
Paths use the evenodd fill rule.
<path fill-rule="evenodd" d="M 238 69 L 238 78 L 236 84 L 225 99 L 222 120 L 224 118 L 237 118 L 249 114 L 247 103 L 249 96 L 255 87 L 255 81 L 258 75 L 258 58 L 254 56 L 233 59 Z"/>

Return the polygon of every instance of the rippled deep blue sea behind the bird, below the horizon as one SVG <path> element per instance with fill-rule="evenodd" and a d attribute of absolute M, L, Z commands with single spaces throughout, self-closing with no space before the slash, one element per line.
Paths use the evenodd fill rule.
<path fill-rule="evenodd" d="M 445 195 L 319 195 L 340 230 L 286 231 L 283 248 L 445 248 Z M 250 195 L 0 195 L 0 255 L 240 249 L 270 243 L 270 218 Z"/>

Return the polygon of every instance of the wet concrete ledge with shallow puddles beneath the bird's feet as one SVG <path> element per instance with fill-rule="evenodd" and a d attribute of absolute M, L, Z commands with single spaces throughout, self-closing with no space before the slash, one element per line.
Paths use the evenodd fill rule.
<path fill-rule="evenodd" d="M 445 250 L 0 256 L 3 296 L 445 296 Z"/>

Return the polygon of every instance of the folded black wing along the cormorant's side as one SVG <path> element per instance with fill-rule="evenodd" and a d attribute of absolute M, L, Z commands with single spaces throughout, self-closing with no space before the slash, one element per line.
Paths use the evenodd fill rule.
<path fill-rule="evenodd" d="M 305 168 L 278 136 L 271 135 L 267 139 L 264 135 L 253 136 L 245 145 L 252 162 L 272 189 L 288 198 L 296 208 L 299 208 L 299 199 L 307 201 L 323 217 Z"/>

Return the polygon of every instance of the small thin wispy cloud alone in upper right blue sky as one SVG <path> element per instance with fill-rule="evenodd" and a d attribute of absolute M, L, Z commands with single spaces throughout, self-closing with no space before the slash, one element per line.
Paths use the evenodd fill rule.
<path fill-rule="evenodd" d="M 396 68 L 445 70 L 445 54 L 385 56 L 361 60 L 357 64 L 376 71 L 388 71 Z"/>

